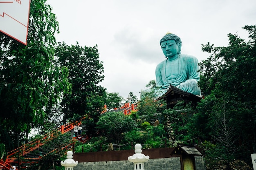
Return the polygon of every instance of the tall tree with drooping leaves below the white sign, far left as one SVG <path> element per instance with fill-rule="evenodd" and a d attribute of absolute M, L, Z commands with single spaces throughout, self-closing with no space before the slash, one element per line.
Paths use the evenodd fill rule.
<path fill-rule="evenodd" d="M 70 93 L 67 68 L 54 64 L 58 22 L 45 2 L 31 1 L 27 46 L 0 35 L 0 143 L 7 151 L 43 124 L 45 107 Z"/>

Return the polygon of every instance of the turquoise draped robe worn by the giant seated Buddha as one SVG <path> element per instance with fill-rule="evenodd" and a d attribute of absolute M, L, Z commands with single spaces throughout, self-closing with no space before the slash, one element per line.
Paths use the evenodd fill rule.
<path fill-rule="evenodd" d="M 162 61 L 156 67 L 156 86 L 166 89 L 167 87 L 164 85 L 171 84 L 188 93 L 201 95 L 200 88 L 198 88 L 197 84 L 200 78 L 197 58 L 191 55 L 180 54 L 180 56 L 177 58 L 178 75 L 173 79 L 166 76 L 166 72 L 168 72 L 168 70 L 166 70 L 167 60 L 168 59 Z"/>

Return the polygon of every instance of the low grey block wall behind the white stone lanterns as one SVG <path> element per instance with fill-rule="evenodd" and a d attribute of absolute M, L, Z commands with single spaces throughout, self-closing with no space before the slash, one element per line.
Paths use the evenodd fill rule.
<path fill-rule="evenodd" d="M 205 170 L 204 158 L 195 157 L 195 169 Z M 149 159 L 145 170 L 180 170 L 180 157 Z M 127 161 L 79 162 L 74 170 L 133 170 L 133 163 Z"/>

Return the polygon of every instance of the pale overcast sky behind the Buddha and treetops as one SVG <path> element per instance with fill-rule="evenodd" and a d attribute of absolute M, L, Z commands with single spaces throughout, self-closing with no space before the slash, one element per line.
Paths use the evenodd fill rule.
<path fill-rule="evenodd" d="M 138 98 L 165 59 L 159 40 L 180 36 L 184 54 L 207 59 L 201 44 L 227 46 L 227 34 L 247 39 L 256 24 L 256 0 L 47 0 L 59 22 L 57 41 L 98 45 L 109 93 Z"/>

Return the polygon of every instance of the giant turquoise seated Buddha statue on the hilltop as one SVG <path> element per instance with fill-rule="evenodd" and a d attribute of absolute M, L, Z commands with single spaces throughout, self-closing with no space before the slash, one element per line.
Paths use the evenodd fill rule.
<path fill-rule="evenodd" d="M 155 70 L 158 96 L 166 93 L 170 85 L 201 95 L 197 84 L 200 78 L 198 60 L 194 56 L 181 54 L 181 44 L 180 37 L 173 33 L 166 33 L 160 40 L 166 60 L 159 63 Z"/>

